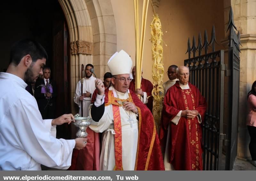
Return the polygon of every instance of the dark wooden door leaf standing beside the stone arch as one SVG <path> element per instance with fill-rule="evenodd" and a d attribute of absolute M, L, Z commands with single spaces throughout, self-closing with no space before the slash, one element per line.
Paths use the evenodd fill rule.
<path fill-rule="evenodd" d="M 57 2 L 58 3 L 58 2 Z M 65 113 L 71 113 L 69 63 L 68 63 L 68 31 L 65 16 L 59 4 L 55 5 L 52 31 L 52 77 L 57 84 L 56 117 Z M 70 138 L 70 125 L 57 126 L 58 138 Z"/>

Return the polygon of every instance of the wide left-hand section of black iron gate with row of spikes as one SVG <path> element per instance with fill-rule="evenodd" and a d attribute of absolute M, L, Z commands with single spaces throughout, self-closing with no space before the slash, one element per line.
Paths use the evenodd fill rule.
<path fill-rule="evenodd" d="M 204 170 L 218 170 L 222 156 L 223 108 L 224 108 L 224 50 L 215 51 L 215 30 L 212 28 L 211 42 L 208 43 L 207 32 L 204 31 L 204 45 L 201 44 L 201 34 L 198 37 L 198 46 L 193 37 L 192 48 L 188 39 L 188 57 L 184 61 L 189 67 L 189 81 L 195 85 L 207 101 L 207 110 L 203 124 L 203 168 Z M 208 46 L 212 45 L 212 52 L 208 53 Z M 201 55 L 204 48 L 205 54 Z M 198 56 L 195 57 L 198 50 Z M 190 53 L 193 52 L 193 58 Z"/>

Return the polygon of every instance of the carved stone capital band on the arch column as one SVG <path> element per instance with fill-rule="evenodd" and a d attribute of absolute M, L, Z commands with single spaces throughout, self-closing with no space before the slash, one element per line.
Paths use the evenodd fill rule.
<path fill-rule="evenodd" d="M 93 43 L 89 41 L 77 40 L 70 43 L 71 55 L 83 54 L 92 55 Z"/>

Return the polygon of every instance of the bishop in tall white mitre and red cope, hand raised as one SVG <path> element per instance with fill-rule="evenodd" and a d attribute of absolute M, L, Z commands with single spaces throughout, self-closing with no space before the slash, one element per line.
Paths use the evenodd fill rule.
<path fill-rule="evenodd" d="M 150 110 L 130 91 L 132 60 L 124 51 L 108 61 L 112 85 L 95 81 L 98 94 L 89 110 L 90 128 L 103 132 L 100 170 L 164 170 L 156 126 Z"/>

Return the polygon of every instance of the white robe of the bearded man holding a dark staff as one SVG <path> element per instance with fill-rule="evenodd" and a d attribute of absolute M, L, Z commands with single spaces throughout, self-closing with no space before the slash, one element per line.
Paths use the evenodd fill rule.
<path fill-rule="evenodd" d="M 89 79 L 84 78 L 83 82 L 83 93 L 86 93 L 86 91 L 93 94 L 95 87 L 95 80 L 96 78 L 91 76 Z M 79 100 L 79 97 L 81 96 L 81 81 L 79 80 L 76 84 L 76 92 L 74 95 L 74 102 L 79 106 L 79 114 L 81 116 L 81 101 Z M 92 98 L 91 97 L 84 97 L 83 100 L 83 116 L 88 116 L 88 110 L 89 106 L 91 104 Z"/>

